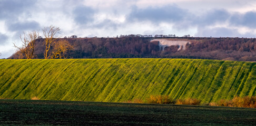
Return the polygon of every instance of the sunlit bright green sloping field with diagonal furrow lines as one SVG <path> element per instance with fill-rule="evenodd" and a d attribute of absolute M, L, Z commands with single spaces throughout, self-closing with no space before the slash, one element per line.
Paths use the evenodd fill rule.
<path fill-rule="evenodd" d="M 253 62 L 199 59 L 0 60 L 0 98 L 122 102 L 169 95 L 204 103 L 255 96 Z"/>

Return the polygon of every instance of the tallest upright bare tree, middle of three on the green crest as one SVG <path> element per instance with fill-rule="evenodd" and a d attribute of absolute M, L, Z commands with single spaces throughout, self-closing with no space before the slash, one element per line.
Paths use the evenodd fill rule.
<path fill-rule="evenodd" d="M 59 38 L 59 34 L 61 29 L 59 27 L 55 26 L 49 26 L 49 27 L 44 27 L 43 29 L 43 34 L 44 34 L 44 41 L 45 41 L 45 51 L 44 51 L 44 58 L 48 59 L 51 57 L 51 53 L 48 54 L 48 51 L 51 48 L 52 43 Z"/>

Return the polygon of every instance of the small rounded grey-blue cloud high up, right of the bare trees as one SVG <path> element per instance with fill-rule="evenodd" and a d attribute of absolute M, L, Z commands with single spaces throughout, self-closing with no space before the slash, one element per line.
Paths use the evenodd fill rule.
<path fill-rule="evenodd" d="M 79 6 L 73 10 L 75 22 L 78 24 L 87 24 L 93 21 L 95 10 L 87 6 Z"/>

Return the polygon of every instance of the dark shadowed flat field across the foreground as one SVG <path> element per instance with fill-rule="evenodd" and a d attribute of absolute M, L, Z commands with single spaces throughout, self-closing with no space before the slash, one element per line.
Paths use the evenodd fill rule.
<path fill-rule="evenodd" d="M 256 125 L 256 109 L 0 100 L 1 125 Z"/>

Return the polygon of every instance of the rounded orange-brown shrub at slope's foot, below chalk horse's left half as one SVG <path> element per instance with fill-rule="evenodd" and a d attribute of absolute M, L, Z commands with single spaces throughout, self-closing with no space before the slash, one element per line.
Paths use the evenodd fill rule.
<path fill-rule="evenodd" d="M 158 95 L 158 96 L 151 95 L 150 98 L 147 99 L 147 103 L 169 104 L 169 103 L 173 103 L 173 101 L 166 95 Z"/>

